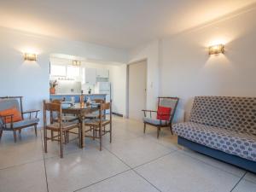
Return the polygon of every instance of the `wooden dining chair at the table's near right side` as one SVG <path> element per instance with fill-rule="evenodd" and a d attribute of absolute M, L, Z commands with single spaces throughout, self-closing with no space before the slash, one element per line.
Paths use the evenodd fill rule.
<path fill-rule="evenodd" d="M 103 114 L 104 111 L 109 110 L 109 119 Z M 110 134 L 109 142 L 112 142 L 112 107 L 111 102 L 101 103 L 99 108 L 100 117 L 97 119 L 88 119 L 85 120 L 84 125 L 89 126 L 90 129 L 85 131 L 93 131 L 92 136 L 86 135 L 85 137 L 91 137 L 93 139 L 100 140 L 100 150 L 102 150 L 102 136 L 106 135 L 107 133 Z M 109 125 L 109 130 L 106 130 L 106 126 Z"/>

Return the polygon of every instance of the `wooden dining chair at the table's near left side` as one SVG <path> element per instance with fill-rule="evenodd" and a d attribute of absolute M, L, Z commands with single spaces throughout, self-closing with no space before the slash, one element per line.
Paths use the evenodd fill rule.
<path fill-rule="evenodd" d="M 57 113 L 58 120 L 55 122 L 52 117 L 52 113 Z M 50 115 L 49 124 L 47 123 L 47 114 Z M 57 141 L 60 143 L 61 158 L 63 158 L 63 144 L 66 142 L 65 136 L 68 133 L 74 133 L 72 130 L 79 127 L 79 123 L 76 122 L 63 122 L 62 120 L 61 103 L 45 102 L 44 101 L 44 153 L 47 153 L 47 141 Z M 47 131 L 55 131 L 58 134 L 56 136 L 47 136 Z M 65 139 L 64 139 L 64 138 Z M 80 141 L 79 141 L 80 143 Z"/>

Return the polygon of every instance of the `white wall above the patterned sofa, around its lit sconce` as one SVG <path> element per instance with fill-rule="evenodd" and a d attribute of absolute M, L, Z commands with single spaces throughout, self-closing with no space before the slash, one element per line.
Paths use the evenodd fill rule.
<path fill-rule="evenodd" d="M 162 39 L 160 95 L 181 98 L 177 119 L 194 96 L 256 96 L 256 11 Z M 225 44 L 224 55 L 207 47 Z"/>

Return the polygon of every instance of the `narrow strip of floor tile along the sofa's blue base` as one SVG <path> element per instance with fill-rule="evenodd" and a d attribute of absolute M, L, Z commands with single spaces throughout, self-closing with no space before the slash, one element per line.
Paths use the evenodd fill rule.
<path fill-rule="evenodd" d="M 189 148 L 183 148 L 182 150 L 180 150 L 180 152 L 183 154 L 189 155 L 190 157 L 193 157 L 197 160 L 201 160 L 201 161 L 207 163 L 208 165 L 215 166 L 215 167 L 219 168 L 220 170 L 223 170 L 225 172 L 230 172 L 230 173 L 236 175 L 237 177 L 242 177 L 244 175 L 244 173 L 246 172 L 245 170 L 240 169 L 236 166 L 231 166 L 230 164 L 224 163 L 223 161 L 216 160 L 207 155 L 197 153 L 195 151 L 190 150 Z"/>

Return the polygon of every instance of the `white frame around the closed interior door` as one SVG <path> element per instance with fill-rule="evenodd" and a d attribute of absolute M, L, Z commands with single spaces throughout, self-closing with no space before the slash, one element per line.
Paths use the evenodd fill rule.
<path fill-rule="evenodd" d="M 127 64 L 126 67 L 126 118 L 129 119 L 129 102 L 130 102 L 130 98 L 129 98 L 129 78 L 130 78 L 130 74 L 129 74 L 129 70 L 130 70 L 130 66 L 133 64 L 137 64 L 138 62 L 142 62 L 145 61 L 146 63 L 146 97 L 145 97 L 145 102 L 146 102 L 146 106 L 147 106 L 147 97 L 148 97 L 148 58 L 143 58 L 143 59 L 139 59 L 136 61 L 131 61 Z"/>

